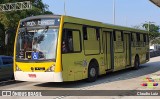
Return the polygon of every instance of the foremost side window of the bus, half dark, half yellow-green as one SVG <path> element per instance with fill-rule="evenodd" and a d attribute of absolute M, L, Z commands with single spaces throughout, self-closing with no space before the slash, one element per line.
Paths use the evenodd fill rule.
<path fill-rule="evenodd" d="M 64 29 L 62 36 L 62 53 L 81 51 L 80 32 L 78 30 Z"/>

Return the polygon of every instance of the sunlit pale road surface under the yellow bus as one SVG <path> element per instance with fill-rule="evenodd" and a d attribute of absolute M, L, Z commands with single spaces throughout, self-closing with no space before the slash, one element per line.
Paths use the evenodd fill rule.
<path fill-rule="evenodd" d="M 122 70 L 102 75 L 96 82 L 85 80 L 63 83 L 35 83 L 35 82 L 0 82 L 0 90 L 160 90 L 156 87 L 142 86 L 146 77 L 160 74 L 160 57 L 151 58 L 150 62 L 141 65 L 139 70 Z M 160 81 L 159 81 L 160 84 Z M 85 94 L 85 93 L 84 93 Z M 50 97 L 0 97 L 3 99 L 160 99 L 158 96 L 50 96 Z M 93 93 L 94 94 L 94 93 Z M 131 94 L 131 92 L 128 92 Z"/>

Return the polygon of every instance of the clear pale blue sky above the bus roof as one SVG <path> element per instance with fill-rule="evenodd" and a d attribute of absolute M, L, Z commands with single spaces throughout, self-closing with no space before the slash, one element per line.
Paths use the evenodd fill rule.
<path fill-rule="evenodd" d="M 54 14 L 113 24 L 113 0 L 42 0 Z M 160 25 L 160 8 L 149 0 L 115 0 L 115 24 L 140 26 L 146 22 Z"/>

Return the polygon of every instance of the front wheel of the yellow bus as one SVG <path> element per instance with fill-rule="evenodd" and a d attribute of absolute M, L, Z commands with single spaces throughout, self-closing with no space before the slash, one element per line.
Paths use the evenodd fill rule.
<path fill-rule="evenodd" d="M 98 77 L 98 66 L 95 62 L 91 62 L 88 67 L 88 82 L 94 82 Z"/>

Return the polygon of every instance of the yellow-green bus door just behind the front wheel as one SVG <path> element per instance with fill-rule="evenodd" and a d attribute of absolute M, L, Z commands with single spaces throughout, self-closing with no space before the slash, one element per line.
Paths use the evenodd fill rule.
<path fill-rule="evenodd" d="M 106 66 L 106 71 L 112 69 L 112 46 L 111 46 L 111 32 L 104 31 L 103 32 L 103 48 L 104 48 L 104 63 Z"/>

